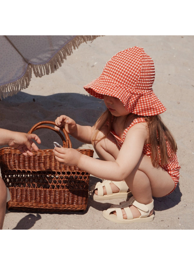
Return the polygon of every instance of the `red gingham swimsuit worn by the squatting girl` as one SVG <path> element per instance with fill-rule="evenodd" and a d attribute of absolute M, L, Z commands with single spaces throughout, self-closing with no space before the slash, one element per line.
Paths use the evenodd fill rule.
<path fill-rule="evenodd" d="M 137 118 L 137 119 L 134 119 L 133 122 L 130 124 L 129 127 L 127 127 L 124 132 L 123 132 L 123 138 L 119 138 L 116 133 L 114 132 L 114 130 L 111 130 L 111 134 L 115 137 L 116 141 L 117 141 L 117 144 L 119 146 L 119 148 L 121 148 L 124 140 L 125 140 L 125 137 L 126 137 L 126 133 L 128 132 L 128 130 L 135 124 L 139 123 L 139 122 L 145 122 L 145 119 L 144 118 Z M 170 145 L 168 142 L 166 142 L 166 145 L 167 145 L 167 151 L 168 151 L 168 154 L 170 155 Z M 150 148 L 150 144 L 145 144 L 144 147 L 143 147 L 143 154 L 151 157 L 151 148 Z M 161 164 L 159 163 L 159 165 L 161 166 Z M 173 156 L 173 158 L 170 158 L 169 159 L 169 162 L 167 165 L 164 165 L 162 167 L 164 170 L 166 170 L 168 172 L 168 174 L 171 176 L 171 178 L 173 179 L 174 183 L 175 183 L 175 187 L 174 189 L 170 192 L 172 193 L 177 184 L 178 184 L 178 180 L 179 180 L 179 170 L 180 170 L 180 165 L 178 164 L 178 158 L 177 158 L 177 155 L 175 154 Z M 168 193 L 168 194 L 170 194 Z"/>

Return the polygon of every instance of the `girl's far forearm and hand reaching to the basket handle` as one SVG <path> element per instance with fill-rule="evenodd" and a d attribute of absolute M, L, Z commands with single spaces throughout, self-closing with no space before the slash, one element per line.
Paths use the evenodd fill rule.
<path fill-rule="evenodd" d="M 65 130 L 71 134 L 77 140 L 83 143 L 91 144 L 91 137 L 93 129 L 91 126 L 82 126 L 77 124 L 74 120 L 66 115 L 61 115 L 55 120 L 55 129 L 65 128 Z"/>

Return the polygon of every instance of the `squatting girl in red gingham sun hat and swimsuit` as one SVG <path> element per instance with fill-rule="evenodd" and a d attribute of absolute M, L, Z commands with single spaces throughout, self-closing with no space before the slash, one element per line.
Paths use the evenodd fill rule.
<path fill-rule="evenodd" d="M 143 48 L 118 52 L 102 74 L 84 86 L 107 107 L 97 122 L 81 126 L 66 115 L 55 121 L 56 129 L 65 127 L 81 142 L 92 143 L 101 159 L 75 149 L 53 150 L 60 163 L 106 179 L 96 184 L 93 198 L 131 197 L 103 211 L 103 217 L 116 223 L 152 221 L 152 196 L 172 193 L 178 184 L 177 145 L 160 119 L 166 108 L 152 90 L 154 78 L 154 62 Z"/>

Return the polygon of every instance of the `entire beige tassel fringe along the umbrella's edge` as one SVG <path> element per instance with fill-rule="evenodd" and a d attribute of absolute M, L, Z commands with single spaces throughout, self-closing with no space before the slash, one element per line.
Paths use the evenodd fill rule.
<path fill-rule="evenodd" d="M 99 35 L 88 35 L 88 36 L 75 36 L 70 42 L 68 42 L 63 48 L 61 48 L 49 62 L 45 64 L 31 64 L 29 63 L 26 69 L 25 74 L 19 78 L 18 80 L 1 85 L 0 86 L 0 100 L 6 98 L 8 96 L 13 96 L 17 94 L 22 89 L 25 89 L 29 86 L 32 70 L 36 77 L 42 77 L 45 74 L 50 74 L 55 72 L 59 67 L 61 67 L 64 59 L 66 60 L 67 56 L 73 53 L 73 49 L 75 50 L 82 44 L 83 42 L 93 41 Z"/>

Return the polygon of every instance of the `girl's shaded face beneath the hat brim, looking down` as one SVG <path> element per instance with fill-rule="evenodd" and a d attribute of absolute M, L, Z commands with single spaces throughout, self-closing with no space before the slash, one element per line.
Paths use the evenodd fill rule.
<path fill-rule="evenodd" d="M 116 97 L 104 95 L 103 100 L 104 100 L 106 107 L 108 108 L 108 110 L 111 112 L 113 116 L 116 116 L 116 117 L 126 116 L 130 113 L 125 110 L 125 107 L 123 103 L 121 102 L 121 100 L 119 100 Z"/>

